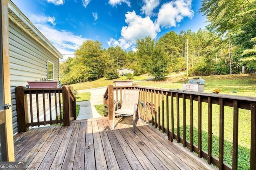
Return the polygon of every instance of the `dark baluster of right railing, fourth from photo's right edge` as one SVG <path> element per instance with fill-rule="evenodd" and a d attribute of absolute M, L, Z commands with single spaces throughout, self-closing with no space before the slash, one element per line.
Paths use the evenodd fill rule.
<path fill-rule="evenodd" d="M 208 164 L 212 163 L 212 100 L 208 97 Z"/>

